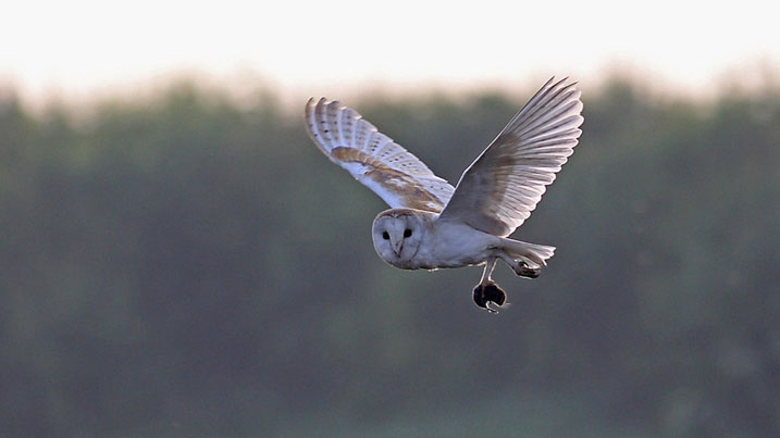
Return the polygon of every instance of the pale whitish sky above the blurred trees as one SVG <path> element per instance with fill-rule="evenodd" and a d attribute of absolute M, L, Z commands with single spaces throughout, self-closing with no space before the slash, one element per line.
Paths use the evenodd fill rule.
<path fill-rule="evenodd" d="M 759 66 L 780 77 L 770 3 L 14 1 L 0 15 L 0 89 L 83 99 L 196 72 L 237 88 L 262 79 L 296 99 L 335 98 L 377 86 L 517 88 L 552 75 L 584 86 L 619 65 L 707 92 Z"/>

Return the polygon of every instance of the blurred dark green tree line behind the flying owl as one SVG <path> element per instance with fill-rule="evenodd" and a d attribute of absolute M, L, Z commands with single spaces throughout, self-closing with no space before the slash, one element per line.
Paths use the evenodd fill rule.
<path fill-rule="evenodd" d="M 403 272 L 385 207 L 273 92 L 0 98 L 3 436 L 780 430 L 780 92 L 585 84 L 580 147 L 516 237 L 543 275 Z M 521 107 L 346 102 L 437 174 Z M 301 102 L 301 110 L 302 110 Z M 301 111 L 302 112 L 302 111 Z"/>

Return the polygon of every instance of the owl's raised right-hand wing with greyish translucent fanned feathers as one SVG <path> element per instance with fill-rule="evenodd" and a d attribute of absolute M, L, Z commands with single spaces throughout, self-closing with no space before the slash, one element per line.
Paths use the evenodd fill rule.
<path fill-rule="evenodd" d="M 577 84 L 553 80 L 463 172 L 441 221 L 508 236 L 531 215 L 582 133 Z"/>

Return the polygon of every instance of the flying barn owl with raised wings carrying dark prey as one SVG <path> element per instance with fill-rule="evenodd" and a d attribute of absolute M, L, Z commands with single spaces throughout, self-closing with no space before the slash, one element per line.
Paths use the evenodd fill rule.
<path fill-rule="evenodd" d="M 555 251 L 508 236 L 531 215 L 578 143 L 583 117 L 575 86 L 550 78 L 456 187 L 337 101 L 310 99 L 306 127 L 331 161 L 391 207 L 371 228 L 382 260 L 401 270 L 484 264 L 473 300 L 497 313 L 494 308 L 504 305 L 506 292 L 491 277 L 496 261 L 535 278 Z"/>

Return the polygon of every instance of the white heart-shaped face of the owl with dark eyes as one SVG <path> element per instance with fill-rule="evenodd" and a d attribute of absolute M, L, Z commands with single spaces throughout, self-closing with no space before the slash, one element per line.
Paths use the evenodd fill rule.
<path fill-rule="evenodd" d="M 380 213 L 374 220 L 371 236 L 376 253 L 396 267 L 412 267 L 426 230 L 420 215 L 408 209 L 394 209 Z"/>

